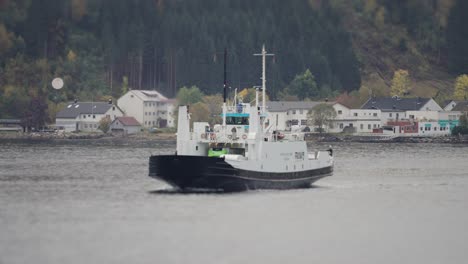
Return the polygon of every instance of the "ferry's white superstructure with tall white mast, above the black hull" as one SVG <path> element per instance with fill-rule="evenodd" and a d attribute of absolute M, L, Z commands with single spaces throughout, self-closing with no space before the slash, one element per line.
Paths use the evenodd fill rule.
<path fill-rule="evenodd" d="M 263 74 L 261 91 L 265 94 L 265 56 L 263 47 Z M 195 122 L 190 127 L 190 110 L 179 107 L 177 155 L 217 155 L 232 167 L 265 173 L 294 173 L 333 166 L 330 151 L 309 153 L 303 133 L 280 133 L 266 122 L 269 112 L 259 103 L 256 91 L 255 105 L 223 106 L 223 122 L 211 127 L 206 122 Z"/>

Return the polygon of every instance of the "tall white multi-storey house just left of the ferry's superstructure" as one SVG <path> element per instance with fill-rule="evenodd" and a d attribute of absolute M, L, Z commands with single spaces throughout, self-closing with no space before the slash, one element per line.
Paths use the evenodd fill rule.
<path fill-rule="evenodd" d="M 126 116 L 134 117 L 143 127 L 174 127 L 174 99 L 157 91 L 131 90 L 120 97 L 117 105 Z"/>

